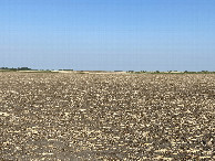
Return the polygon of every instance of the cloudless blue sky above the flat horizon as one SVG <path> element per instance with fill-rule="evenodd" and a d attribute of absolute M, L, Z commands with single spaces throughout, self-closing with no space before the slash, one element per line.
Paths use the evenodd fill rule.
<path fill-rule="evenodd" d="M 215 71 L 215 0 L 0 0 L 0 67 Z"/>

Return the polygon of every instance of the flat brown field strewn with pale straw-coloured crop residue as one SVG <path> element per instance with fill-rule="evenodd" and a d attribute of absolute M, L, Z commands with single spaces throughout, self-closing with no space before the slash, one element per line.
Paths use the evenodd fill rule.
<path fill-rule="evenodd" d="M 214 160 L 214 74 L 0 73 L 0 160 Z"/>

